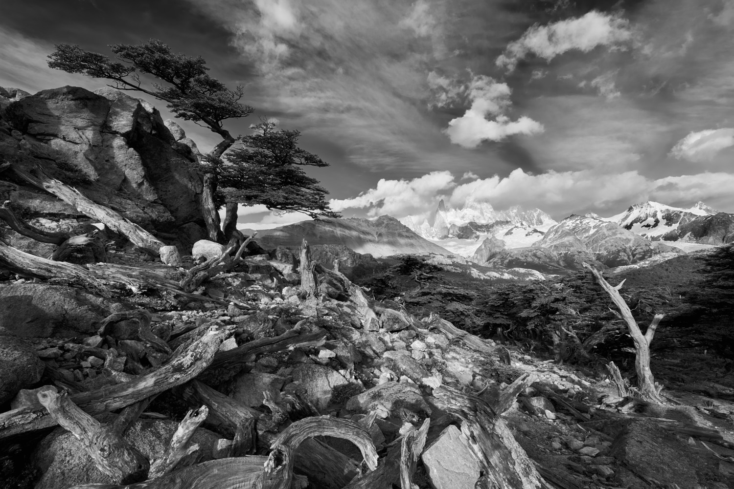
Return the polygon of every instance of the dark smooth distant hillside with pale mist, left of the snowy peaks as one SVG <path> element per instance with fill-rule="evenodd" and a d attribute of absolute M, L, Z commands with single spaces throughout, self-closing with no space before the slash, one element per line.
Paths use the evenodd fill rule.
<path fill-rule="evenodd" d="M 301 246 L 304 238 L 311 245 L 342 245 L 374 257 L 429 253 L 452 255 L 451 251 L 421 238 L 390 216 L 373 220 L 346 218 L 302 221 L 258 231 L 258 243 L 266 248 Z"/>

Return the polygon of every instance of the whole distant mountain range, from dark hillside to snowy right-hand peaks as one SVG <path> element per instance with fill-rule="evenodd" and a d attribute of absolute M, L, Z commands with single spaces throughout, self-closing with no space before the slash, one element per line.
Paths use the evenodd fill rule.
<path fill-rule="evenodd" d="M 494 276 L 486 270 L 527 276 L 526 271 L 567 273 L 583 262 L 597 268 L 655 262 L 734 240 L 734 214 L 703 202 L 687 209 L 644 202 L 607 218 L 573 214 L 559 222 L 537 208 L 495 210 L 487 202 L 468 200 L 456 209 L 441 200 L 431 216 L 430 221 L 421 216 L 302 221 L 263 230 L 258 239 L 264 246 L 294 248 L 306 238 L 375 257 L 453 255 L 449 260 L 456 263 L 468 259 L 482 265 L 488 278 Z"/>

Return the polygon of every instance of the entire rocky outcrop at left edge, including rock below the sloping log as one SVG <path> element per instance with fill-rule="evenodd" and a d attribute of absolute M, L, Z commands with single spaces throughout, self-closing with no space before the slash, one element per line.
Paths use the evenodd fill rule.
<path fill-rule="evenodd" d="M 149 103 L 109 87 L 60 87 L 35 95 L 4 89 L 0 109 L 0 154 L 8 161 L 24 169 L 43 166 L 150 230 L 188 240 L 192 229 L 181 228 L 203 222 L 202 183 L 192 166 L 197 155 L 183 131 L 177 140 Z M 90 222 L 53 196 L 16 183 L 0 184 L 0 199 L 10 200 L 19 216 Z"/>

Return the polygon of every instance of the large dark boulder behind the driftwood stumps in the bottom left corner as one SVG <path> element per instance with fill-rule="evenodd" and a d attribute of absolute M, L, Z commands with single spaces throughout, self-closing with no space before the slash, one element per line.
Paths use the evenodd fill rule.
<path fill-rule="evenodd" d="M 138 420 L 125 434 L 125 438 L 142 455 L 152 460 L 161 457 L 169 444 L 178 423 L 170 420 Z M 192 444 L 201 447 L 200 462 L 211 460 L 218 435 L 199 428 L 192 437 Z M 84 444 L 62 428 L 57 428 L 40 442 L 32 455 L 34 466 L 40 471 L 36 489 L 66 489 L 81 484 L 112 484 L 87 455 Z"/>

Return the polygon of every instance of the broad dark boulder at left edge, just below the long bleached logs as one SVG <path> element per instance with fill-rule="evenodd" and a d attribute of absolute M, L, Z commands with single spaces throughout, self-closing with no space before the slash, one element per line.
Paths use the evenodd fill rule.
<path fill-rule="evenodd" d="M 0 334 L 43 338 L 68 338 L 80 333 L 89 336 L 101 320 L 124 309 L 122 304 L 115 305 L 65 285 L 0 285 Z"/>

